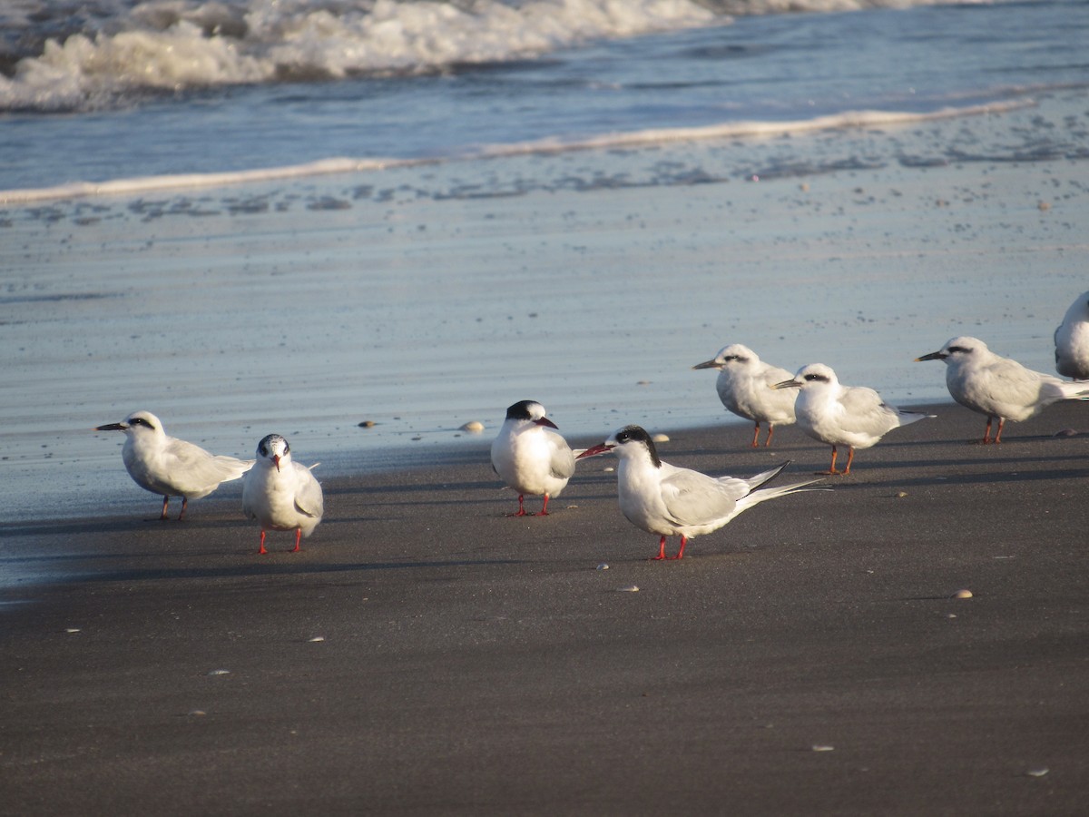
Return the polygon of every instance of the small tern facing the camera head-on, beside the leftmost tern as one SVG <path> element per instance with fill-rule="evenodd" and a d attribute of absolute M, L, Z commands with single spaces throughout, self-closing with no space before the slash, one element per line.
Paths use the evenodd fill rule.
<path fill-rule="evenodd" d="M 270 434 L 257 443 L 257 464 L 242 484 L 242 512 L 261 526 L 261 547 L 267 553 L 265 534 L 268 531 L 294 531 L 295 547 L 304 536 L 314 533 L 325 513 L 321 486 L 310 468 L 291 460 L 287 440 Z"/>

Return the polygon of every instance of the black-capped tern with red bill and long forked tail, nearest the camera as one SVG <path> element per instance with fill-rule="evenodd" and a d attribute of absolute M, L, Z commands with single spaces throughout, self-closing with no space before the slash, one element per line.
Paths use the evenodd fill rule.
<path fill-rule="evenodd" d="M 819 480 L 755 490 L 778 476 L 783 463 L 748 479 L 712 477 L 698 471 L 680 468 L 658 456 L 653 440 L 639 426 L 624 426 L 609 439 L 591 446 L 578 459 L 612 451 L 620 458 L 616 488 L 620 510 L 636 527 L 661 536 L 658 559 L 682 559 L 688 539 L 718 531 L 730 520 L 758 502 L 776 499 L 807 488 Z M 665 540 L 681 537 L 676 556 L 665 556 Z"/>

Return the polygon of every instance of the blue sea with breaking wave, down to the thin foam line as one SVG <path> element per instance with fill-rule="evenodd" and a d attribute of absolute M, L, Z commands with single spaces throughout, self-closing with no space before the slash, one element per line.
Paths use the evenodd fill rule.
<path fill-rule="evenodd" d="M 1077 0 L 3 9 L 0 191 L 781 132 L 1016 105 L 1089 78 Z"/>

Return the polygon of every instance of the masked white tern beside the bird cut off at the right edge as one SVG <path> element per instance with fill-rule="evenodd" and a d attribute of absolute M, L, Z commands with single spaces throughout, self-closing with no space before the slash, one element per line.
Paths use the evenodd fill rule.
<path fill-rule="evenodd" d="M 999 420 L 994 442 L 1002 442 L 1006 420 L 1019 423 L 1035 417 L 1061 400 L 1084 400 L 1086 383 L 1061 380 L 1032 371 L 1017 361 L 998 355 L 977 338 L 953 338 L 937 352 L 915 358 L 944 361 L 945 386 L 960 405 L 987 415 L 982 442 L 991 442 L 991 424 Z"/>

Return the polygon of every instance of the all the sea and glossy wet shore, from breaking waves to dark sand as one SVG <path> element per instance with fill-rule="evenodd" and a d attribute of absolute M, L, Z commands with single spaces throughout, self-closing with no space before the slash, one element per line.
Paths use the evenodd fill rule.
<path fill-rule="evenodd" d="M 725 422 L 689 367 L 726 342 L 932 402 L 890 361 L 1050 370 L 1089 289 L 1085 2 L 16 0 L 0 37 L 16 533 L 155 510 L 89 430 L 140 407 L 337 474 L 526 398 Z"/>

